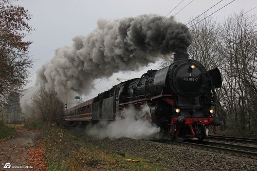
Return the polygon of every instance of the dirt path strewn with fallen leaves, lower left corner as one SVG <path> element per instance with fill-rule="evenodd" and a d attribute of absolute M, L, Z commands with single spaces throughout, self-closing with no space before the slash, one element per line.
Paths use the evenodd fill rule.
<path fill-rule="evenodd" d="M 39 132 L 17 128 L 14 137 L 0 142 L 0 169 L 17 171 L 31 168 L 26 164 L 28 149 L 34 147 L 39 138 Z M 19 168 L 13 168 L 15 166 Z"/>

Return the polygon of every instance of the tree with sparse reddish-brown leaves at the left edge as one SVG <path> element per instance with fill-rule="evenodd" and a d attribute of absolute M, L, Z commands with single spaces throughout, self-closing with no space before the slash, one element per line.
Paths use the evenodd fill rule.
<path fill-rule="evenodd" d="M 24 41 L 33 30 L 28 24 L 30 15 L 26 9 L 11 0 L 0 0 L 0 98 L 10 93 L 21 93 L 28 82 L 28 68 L 32 59 L 28 55 L 30 41 Z M 4 101 L 0 101 L 0 106 Z"/>

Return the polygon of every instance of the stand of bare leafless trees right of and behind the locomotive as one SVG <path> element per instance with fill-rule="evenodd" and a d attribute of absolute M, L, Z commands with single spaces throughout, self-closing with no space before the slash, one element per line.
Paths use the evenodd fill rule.
<path fill-rule="evenodd" d="M 221 26 L 213 18 L 191 23 L 194 37 L 189 47 L 192 59 L 207 70 L 219 68 L 223 86 L 216 90 L 216 113 L 223 128 L 257 132 L 257 27 L 256 17 L 240 12 L 231 15 Z M 162 62 L 165 65 L 167 61 Z"/>

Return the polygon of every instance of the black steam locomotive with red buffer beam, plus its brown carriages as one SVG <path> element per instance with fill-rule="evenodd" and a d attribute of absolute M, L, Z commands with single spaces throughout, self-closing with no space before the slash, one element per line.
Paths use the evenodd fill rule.
<path fill-rule="evenodd" d="M 214 117 L 215 88 L 222 86 L 217 68 L 207 71 L 188 53 L 175 53 L 174 62 L 160 70 L 149 70 L 141 78 L 127 80 L 97 97 L 67 110 L 66 121 L 86 124 L 115 120 L 131 105 L 150 107 L 150 122 L 157 124 L 170 139 L 204 140 L 210 125 L 221 124 Z"/>

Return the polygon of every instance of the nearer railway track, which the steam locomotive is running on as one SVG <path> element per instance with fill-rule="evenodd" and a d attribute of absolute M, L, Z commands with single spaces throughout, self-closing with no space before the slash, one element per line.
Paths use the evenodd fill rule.
<path fill-rule="evenodd" d="M 220 143 L 220 142 L 210 142 L 210 141 L 198 141 L 198 140 L 186 140 L 186 141 L 162 140 L 162 143 L 191 146 L 191 147 L 197 147 L 201 149 L 222 151 L 228 154 L 257 158 L 257 147 L 252 147 L 252 146 L 236 145 L 236 144 Z"/>

